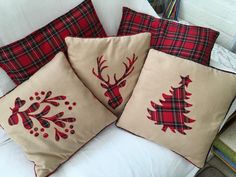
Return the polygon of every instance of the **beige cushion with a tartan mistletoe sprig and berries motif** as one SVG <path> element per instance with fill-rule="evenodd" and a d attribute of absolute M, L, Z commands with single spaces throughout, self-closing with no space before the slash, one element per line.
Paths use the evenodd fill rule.
<path fill-rule="evenodd" d="M 0 99 L 0 124 L 49 176 L 103 128 L 116 120 L 59 53 L 29 80 Z"/>

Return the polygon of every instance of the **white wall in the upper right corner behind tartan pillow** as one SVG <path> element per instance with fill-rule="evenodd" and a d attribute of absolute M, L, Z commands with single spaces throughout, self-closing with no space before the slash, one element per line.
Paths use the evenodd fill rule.
<path fill-rule="evenodd" d="M 217 42 L 236 52 L 236 0 L 181 0 L 179 16 L 219 31 Z"/>

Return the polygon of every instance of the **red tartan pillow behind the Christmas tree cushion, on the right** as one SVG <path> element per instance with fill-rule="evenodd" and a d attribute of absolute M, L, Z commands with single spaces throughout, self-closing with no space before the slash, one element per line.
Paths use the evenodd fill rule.
<path fill-rule="evenodd" d="M 118 35 L 140 32 L 152 33 L 152 48 L 207 66 L 219 35 L 209 28 L 183 25 L 124 7 Z"/>

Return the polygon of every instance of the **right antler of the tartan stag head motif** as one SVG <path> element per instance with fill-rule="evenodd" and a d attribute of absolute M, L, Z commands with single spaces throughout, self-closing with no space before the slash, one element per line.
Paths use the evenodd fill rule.
<path fill-rule="evenodd" d="M 124 72 L 123 76 L 121 76 L 120 79 L 117 79 L 116 74 L 114 74 L 114 80 L 115 80 L 116 84 L 118 84 L 119 82 L 124 80 L 128 75 L 130 75 L 130 73 L 134 70 L 134 63 L 138 59 L 138 57 L 136 57 L 135 54 L 133 54 L 132 59 L 130 59 L 129 57 L 126 57 L 126 58 L 129 61 L 129 63 L 126 64 L 125 62 L 123 62 L 123 64 L 125 65 L 125 72 Z"/>

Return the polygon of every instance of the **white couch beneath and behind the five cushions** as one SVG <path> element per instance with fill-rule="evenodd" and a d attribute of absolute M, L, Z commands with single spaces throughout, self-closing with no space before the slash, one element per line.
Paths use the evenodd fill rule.
<path fill-rule="evenodd" d="M 82 0 L 0 0 L 0 46 L 18 40 L 46 25 L 80 2 Z M 157 17 L 146 0 L 93 0 L 93 3 L 108 35 L 116 35 L 122 6 Z M 219 50 L 221 49 L 217 49 L 217 52 Z M 229 54 L 226 52 L 225 55 Z M 214 66 L 225 67 L 217 61 L 212 59 Z M 224 69 L 234 70 L 230 67 Z M 14 83 L 0 69 L 0 94 L 5 94 L 13 87 Z M 193 177 L 197 171 L 197 167 L 174 152 L 111 125 L 52 176 Z M 20 147 L 8 139 L 2 129 L 0 176 L 34 176 L 33 163 L 26 159 Z"/>

